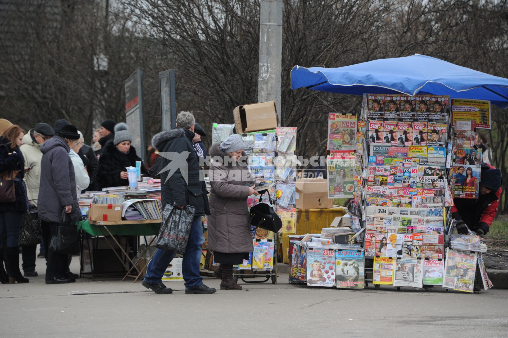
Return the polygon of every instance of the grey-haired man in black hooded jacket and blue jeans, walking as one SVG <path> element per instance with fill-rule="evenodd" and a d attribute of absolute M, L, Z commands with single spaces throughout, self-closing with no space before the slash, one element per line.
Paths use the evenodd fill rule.
<path fill-rule="evenodd" d="M 156 166 L 158 172 L 161 173 L 161 182 L 163 183 L 161 188 L 163 207 L 170 203 L 179 209 L 186 205 L 195 208 L 193 224 L 183 255 L 182 272 L 185 280 L 185 293 L 211 294 L 216 290 L 204 285 L 203 279 L 199 275 L 202 244 L 205 241 L 201 217 L 210 214 L 210 210 L 208 208 L 208 191 L 205 182 L 200 179 L 199 159 L 192 142 L 195 136 L 194 124 L 193 114 L 182 111 L 176 117 L 177 128 L 153 136 L 152 145 L 161 155 Z M 146 268 L 143 286 L 152 289 L 155 293 L 172 293 L 173 290 L 162 283 L 162 276 L 175 256 L 174 252 L 157 249 Z"/>

